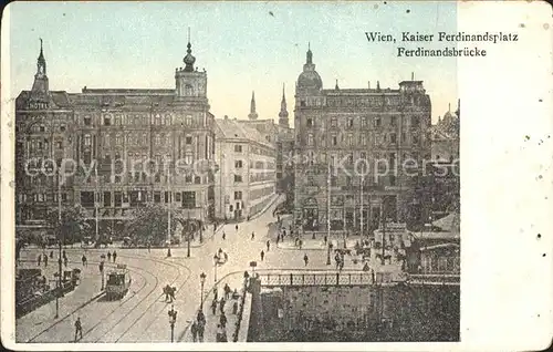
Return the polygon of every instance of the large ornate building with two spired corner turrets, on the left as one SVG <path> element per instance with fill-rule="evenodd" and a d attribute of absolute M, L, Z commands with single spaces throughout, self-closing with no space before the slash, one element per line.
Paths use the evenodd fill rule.
<path fill-rule="evenodd" d="M 33 87 L 17 99 L 18 221 L 43 218 L 58 207 L 58 194 L 115 231 L 146 203 L 170 204 L 199 221 L 212 218 L 215 117 L 207 73 L 194 66 L 190 43 L 184 62 L 175 70 L 175 89 L 52 92 L 41 48 Z M 25 173 L 28 162 L 48 159 L 70 166 L 67 176 Z"/>

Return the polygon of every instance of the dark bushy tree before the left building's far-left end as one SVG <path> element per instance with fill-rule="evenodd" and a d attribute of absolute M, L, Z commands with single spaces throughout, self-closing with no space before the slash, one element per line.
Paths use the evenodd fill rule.
<path fill-rule="evenodd" d="M 80 206 L 63 207 L 61 211 L 61 221 L 59 209 L 50 209 L 46 214 L 46 222 L 54 230 L 55 236 L 63 244 L 73 244 L 82 239 L 88 228 L 85 220 L 86 211 Z"/>

